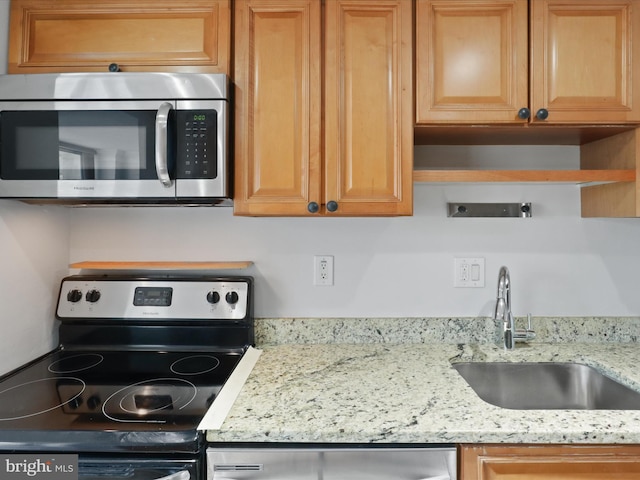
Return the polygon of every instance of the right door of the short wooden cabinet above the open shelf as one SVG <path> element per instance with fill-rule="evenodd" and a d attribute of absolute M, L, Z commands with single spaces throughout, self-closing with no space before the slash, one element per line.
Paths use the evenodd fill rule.
<path fill-rule="evenodd" d="M 547 109 L 548 123 L 640 120 L 638 3 L 530 3 L 532 112 Z"/>

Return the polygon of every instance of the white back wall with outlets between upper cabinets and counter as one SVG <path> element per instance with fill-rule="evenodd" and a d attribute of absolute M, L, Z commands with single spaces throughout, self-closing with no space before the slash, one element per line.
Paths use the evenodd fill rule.
<path fill-rule="evenodd" d="M 441 150 L 417 148 L 417 163 Z M 460 156 L 456 149 L 450 154 Z M 529 163 L 552 158 L 562 168 L 576 163 L 578 148 L 465 147 L 462 156 L 485 155 Z M 511 270 L 516 315 L 640 315 L 640 219 L 580 218 L 579 188 L 416 184 L 414 216 L 404 218 L 243 218 L 230 208 L 74 210 L 71 256 L 253 260 L 247 273 L 257 279 L 257 317 L 490 315 L 503 264 Z M 448 218 L 448 201 L 529 201 L 533 217 Z M 335 286 L 313 286 L 316 254 L 335 256 Z M 455 256 L 486 259 L 485 288 L 453 287 Z"/>

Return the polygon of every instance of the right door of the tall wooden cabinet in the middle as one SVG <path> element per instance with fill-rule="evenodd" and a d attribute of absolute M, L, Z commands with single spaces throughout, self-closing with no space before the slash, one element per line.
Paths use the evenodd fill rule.
<path fill-rule="evenodd" d="M 412 4 L 331 0 L 325 30 L 325 180 L 337 215 L 413 209 Z"/>

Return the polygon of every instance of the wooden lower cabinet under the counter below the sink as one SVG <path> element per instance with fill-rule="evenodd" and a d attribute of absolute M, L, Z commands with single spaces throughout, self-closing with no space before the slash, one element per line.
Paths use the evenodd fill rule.
<path fill-rule="evenodd" d="M 461 445 L 460 480 L 637 480 L 638 445 Z"/>

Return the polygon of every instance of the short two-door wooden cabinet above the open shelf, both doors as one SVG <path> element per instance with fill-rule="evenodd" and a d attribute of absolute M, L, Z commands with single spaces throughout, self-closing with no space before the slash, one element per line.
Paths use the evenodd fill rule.
<path fill-rule="evenodd" d="M 638 32 L 634 0 L 417 0 L 417 122 L 640 121 Z"/>

